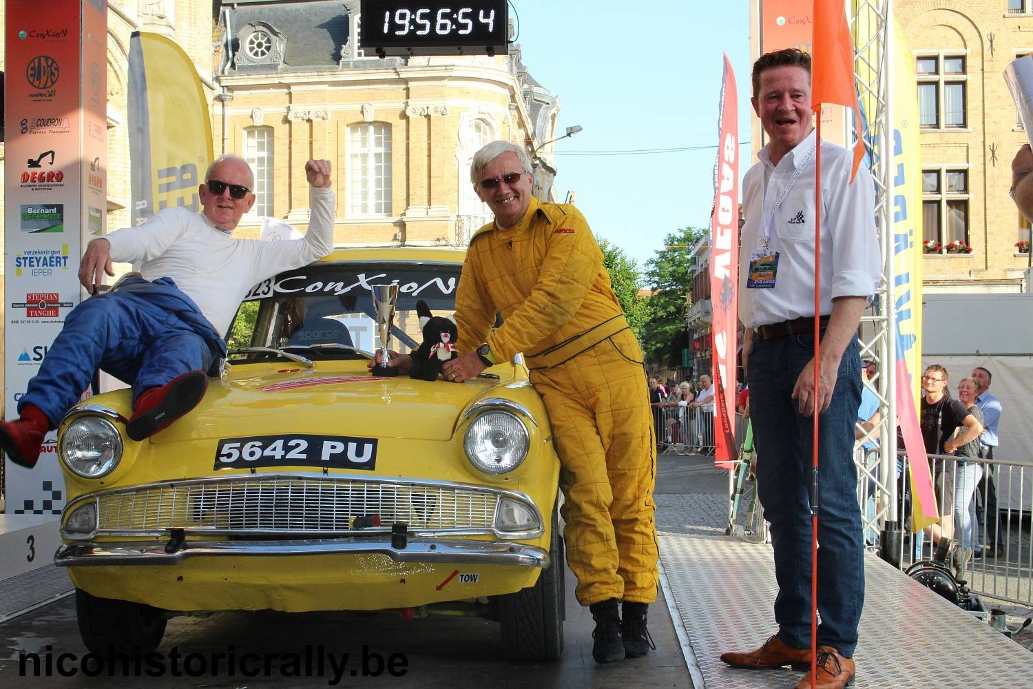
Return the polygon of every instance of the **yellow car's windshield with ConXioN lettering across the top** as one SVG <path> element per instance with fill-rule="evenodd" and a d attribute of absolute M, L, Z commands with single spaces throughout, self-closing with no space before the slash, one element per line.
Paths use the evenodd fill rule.
<path fill-rule="evenodd" d="M 399 286 L 399 295 L 388 346 L 408 352 L 422 339 L 416 302 L 427 302 L 436 316 L 451 314 L 461 269 L 459 263 L 444 262 L 340 262 L 281 273 L 244 297 L 226 337 L 231 359 L 275 355 L 268 350 L 244 351 L 257 348 L 308 358 L 365 358 L 381 345 L 371 287 L 389 284 Z"/>

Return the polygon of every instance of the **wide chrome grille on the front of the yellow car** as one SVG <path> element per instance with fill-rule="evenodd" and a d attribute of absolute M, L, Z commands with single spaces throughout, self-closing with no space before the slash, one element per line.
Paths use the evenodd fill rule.
<path fill-rule="evenodd" d="M 355 516 L 383 527 L 491 529 L 498 496 L 488 491 L 354 478 L 263 477 L 145 486 L 98 497 L 98 532 L 341 532 Z"/>

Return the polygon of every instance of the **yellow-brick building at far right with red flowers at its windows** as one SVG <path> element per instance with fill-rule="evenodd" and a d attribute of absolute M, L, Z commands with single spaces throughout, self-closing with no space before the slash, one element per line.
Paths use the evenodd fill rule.
<path fill-rule="evenodd" d="M 922 167 L 925 291 L 1016 292 L 1030 224 L 1008 197 L 1011 158 L 1027 140 L 1001 76 L 1033 53 L 1033 0 L 898 0 L 898 30 L 912 51 Z M 971 253 L 949 253 L 962 241 Z"/>

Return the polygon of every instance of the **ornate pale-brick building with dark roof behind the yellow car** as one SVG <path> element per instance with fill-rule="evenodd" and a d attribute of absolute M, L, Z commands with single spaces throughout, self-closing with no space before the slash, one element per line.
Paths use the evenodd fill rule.
<path fill-rule="evenodd" d="M 263 216 L 305 225 L 303 165 L 317 157 L 335 167 L 338 244 L 462 245 L 491 217 L 469 181 L 473 153 L 498 138 L 528 148 L 552 138 L 558 98 L 516 46 L 377 58 L 356 40 L 357 0 L 221 4 L 213 135 L 216 154 L 256 170 L 244 236 Z"/>

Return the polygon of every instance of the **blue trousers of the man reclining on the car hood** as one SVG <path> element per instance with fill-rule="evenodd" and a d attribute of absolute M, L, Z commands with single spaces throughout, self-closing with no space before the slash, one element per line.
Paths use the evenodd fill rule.
<path fill-rule="evenodd" d="M 39 373 L 18 404 L 39 407 L 56 428 L 100 369 L 140 393 L 187 371 L 208 371 L 216 354 L 175 313 L 145 300 L 108 292 L 68 314 Z"/>

